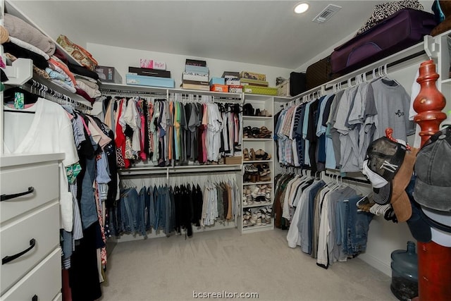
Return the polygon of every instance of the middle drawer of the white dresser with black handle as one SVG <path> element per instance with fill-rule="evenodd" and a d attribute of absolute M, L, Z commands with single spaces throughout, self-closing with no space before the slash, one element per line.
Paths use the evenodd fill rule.
<path fill-rule="evenodd" d="M 58 201 L 54 201 L 1 227 L 0 288 L 2 294 L 58 247 L 58 225 L 59 204 Z M 35 246 L 29 252 L 4 264 L 6 256 L 13 257 L 30 248 L 33 239 Z"/>

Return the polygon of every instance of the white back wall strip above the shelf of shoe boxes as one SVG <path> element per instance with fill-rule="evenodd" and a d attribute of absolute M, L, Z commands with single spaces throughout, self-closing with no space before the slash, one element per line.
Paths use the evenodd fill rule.
<path fill-rule="evenodd" d="M 185 70 L 185 59 L 199 59 L 206 61 L 206 66 L 210 71 L 210 78 L 221 78 L 223 71 L 251 71 L 266 74 L 266 81 L 270 87 L 276 87 L 276 78 L 290 78 L 291 69 L 277 68 L 271 66 L 255 65 L 251 63 L 239 63 L 235 61 L 223 61 L 218 59 L 199 58 L 195 56 L 185 56 L 180 54 L 166 54 L 154 51 L 128 49 L 122 47 L 112 47 L 102 44 L 87 44 L 94 59 L 101 66 L 113 66 L 121 74 L 123 83 L 128 67 L 139 67 L 140 59 L 154 59 L 166 62 L 166 70 L 171 71 L 171 78 L 175 80 L 175 87 L 180 87 L 182 73 Z"/>

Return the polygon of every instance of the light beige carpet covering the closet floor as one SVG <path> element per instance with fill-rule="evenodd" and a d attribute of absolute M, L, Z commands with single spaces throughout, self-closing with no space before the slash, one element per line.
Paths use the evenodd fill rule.
<path fill-rule="evenodd" d="M 223 290 L 258 293 L 258 300 L 397 300 L 390 277 L 362 260 L 323 269 L 299 247 L 288 247 L 286 234 L 225 229 L 187 240 L 119 242 L 109 254 L 101 300 L 194 300 L 193 291 Z"/>

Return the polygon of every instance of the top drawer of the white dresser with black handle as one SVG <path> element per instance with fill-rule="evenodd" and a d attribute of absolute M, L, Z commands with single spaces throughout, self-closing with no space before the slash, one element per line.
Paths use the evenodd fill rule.
<path fill-rule="evenodd" d="M 0 187 L 2 198 L 4 195 L 15 195 L 33 188 L 31 193 L 0 202 L 0 223 L 4 223 L 58 197 L 58 164 L 49 162 L 1 168 Z"/>

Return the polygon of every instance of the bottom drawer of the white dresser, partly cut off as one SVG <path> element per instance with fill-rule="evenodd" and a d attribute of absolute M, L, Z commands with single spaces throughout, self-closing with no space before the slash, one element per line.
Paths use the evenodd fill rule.
<path fill-rule="evenodd" d="M 61 249 L 58 247 L 2 295 L 0 301 L 58 300 L 61 285 Z"/>

